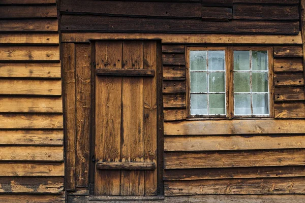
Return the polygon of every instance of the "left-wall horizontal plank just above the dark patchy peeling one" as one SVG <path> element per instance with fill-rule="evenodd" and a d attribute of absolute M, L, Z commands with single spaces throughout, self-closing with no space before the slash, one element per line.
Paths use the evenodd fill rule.
<path fill-rule="evenodd" d="M 64 175 L 65 175 L 64 163 L 0 163 L 0 176 L 64 176 Z"/>

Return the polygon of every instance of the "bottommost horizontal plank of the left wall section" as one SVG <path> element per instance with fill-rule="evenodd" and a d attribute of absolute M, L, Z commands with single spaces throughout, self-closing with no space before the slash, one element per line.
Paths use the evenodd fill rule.
<path fill-rule="evenodd" d="M 11 202 L 14 203 L 28 203 L 32 200 L 33 202 L 52 202 L 52 203 L 64 203 L 65 194 L 54 195 L 54 194 L 2 194 L 0 195 L 0 202 Z"/>

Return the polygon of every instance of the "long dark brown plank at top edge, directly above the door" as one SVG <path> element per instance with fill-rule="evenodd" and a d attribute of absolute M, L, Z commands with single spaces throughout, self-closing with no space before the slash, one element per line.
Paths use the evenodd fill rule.
<path fill-rule="evenodd" d="M 106 16 L 142 16 L 162 18 L 200 18 L 200 3 L 149 1 L 66 0 L 60 3 L 61 13 L 97 14 Z"/>

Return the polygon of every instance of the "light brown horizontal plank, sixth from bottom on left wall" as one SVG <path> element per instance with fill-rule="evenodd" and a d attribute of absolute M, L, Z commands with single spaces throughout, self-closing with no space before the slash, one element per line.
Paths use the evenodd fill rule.
<path fill-rule="evenodd" d="M 1 129 L 63 129 L 63 115 L 1 114 Z"/>

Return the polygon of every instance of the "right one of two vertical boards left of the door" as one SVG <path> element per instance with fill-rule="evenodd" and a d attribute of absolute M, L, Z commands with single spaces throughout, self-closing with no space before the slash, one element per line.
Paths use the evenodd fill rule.
<path fill-rule="evenodd" d="M 89 186 L 90 45 L 76 44 L 76 186 Z"/>

